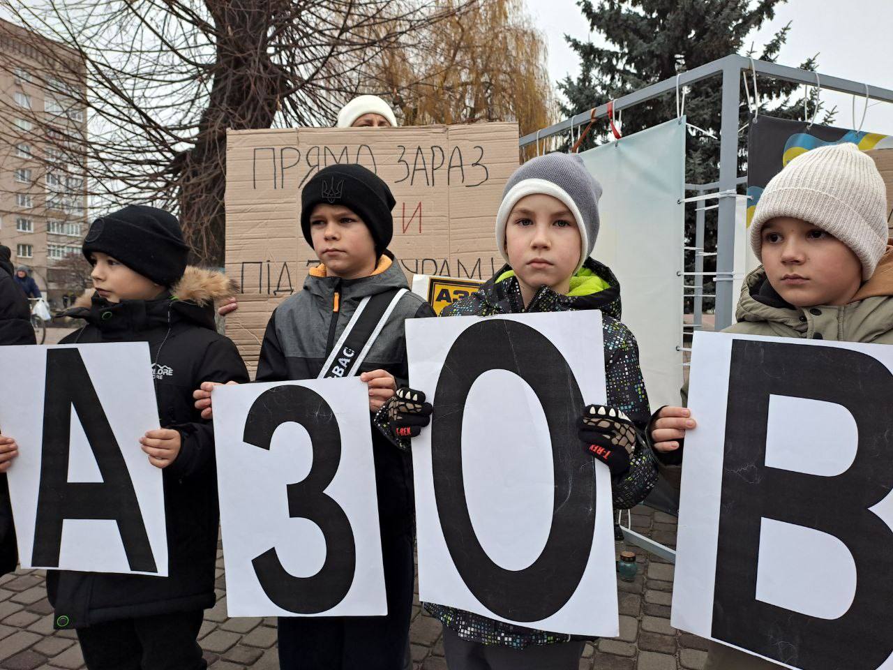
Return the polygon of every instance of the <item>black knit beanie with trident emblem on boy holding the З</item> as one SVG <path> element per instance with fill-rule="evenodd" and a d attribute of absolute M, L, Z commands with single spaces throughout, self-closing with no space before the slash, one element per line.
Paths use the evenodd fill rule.
<path fill-rule="evenodd" d="M 310 214 L 321 203 L 344 205 L 369 228 L 380 255 L 394 236 L 391 210 L 396 205 L 388 184 L 363 165 L 330 165 L 313 175 L 301 191 L 301 230 L 307 244 L 313 247 L 310 236 Z"/>

